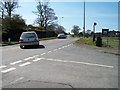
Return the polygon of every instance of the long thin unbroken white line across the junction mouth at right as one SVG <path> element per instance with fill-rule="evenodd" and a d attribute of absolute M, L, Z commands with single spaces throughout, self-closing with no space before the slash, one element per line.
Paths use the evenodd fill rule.
<path fill-rule="evenodd" d="M 93 64 L 93 63 L 86 63 L 86 62 L 66 61 L 66 60 L 58 60 L 58 59 L 45 59 L 45 60 L 58 61 L 58 62 L 77 63 L 77 64 L 84 64 L 84 65 L 91 65 L 91 66 L 99 66 L 99 67 L 107 67 L 107 68 L 114 68 L 114 66 L 102 65 L 102 64 Z"/>

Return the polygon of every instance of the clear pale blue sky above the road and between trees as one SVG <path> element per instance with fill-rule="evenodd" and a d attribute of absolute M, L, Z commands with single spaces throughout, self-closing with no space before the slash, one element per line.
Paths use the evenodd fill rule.
<path fill-rule="evenodd" d="M 64 0 L 65 1 L 65 0 Z M 54 9 L 58 17 L 58 24 L 65 27 L 66 32 L 71 32 L 74 25 L 78 25 L 83 31 L 83 16 L 84 3 L 83 1 L 53 1 L 49 6 Z M 19 8 L 15 10 L 16 14 L 20 14 L 25 19 L 27 24 L 35 25 L 37 15 L 33 11 L 37 11 L 36 1 L 20 1 Z M 94 2 L 86 1 L 85 5 L 85 26 L 86 30 L 93 30 L 94 22 L 96 32 L 101 32 L 102 29 L 118 30 L 118 1 L 111 2 Z"/>

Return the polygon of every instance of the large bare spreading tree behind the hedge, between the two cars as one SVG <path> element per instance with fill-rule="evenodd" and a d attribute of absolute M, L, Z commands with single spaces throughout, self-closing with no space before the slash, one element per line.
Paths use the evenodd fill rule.
<path fill-rule="evenodd" d="M 48 1 L 38 1 L 37 12 L 34 12 L 38 18 L 36 23 L 39 24 L 40 27 L 44 27 L 45 30 L 47 26 L 54 24 L 54 21 L 57 20 L 57 16 L 55 16 L 54 10 L 50 8 Z"/>

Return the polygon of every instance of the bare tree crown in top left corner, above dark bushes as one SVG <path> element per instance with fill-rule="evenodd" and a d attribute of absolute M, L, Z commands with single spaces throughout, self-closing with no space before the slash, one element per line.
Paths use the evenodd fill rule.
<path fill-rule="evenodd" d="M 12 16 L 12 12 L 18 8 L 18 0 L 3 0 L 0 1 L 0 11 L 2 15 L 6 14 L 9 18 Z"/>

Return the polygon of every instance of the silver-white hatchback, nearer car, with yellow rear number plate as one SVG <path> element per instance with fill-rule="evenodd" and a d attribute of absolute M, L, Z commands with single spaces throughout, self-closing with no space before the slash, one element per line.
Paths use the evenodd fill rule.
<path fill-rule="evenodd" d="M 26 46 L 39 46 L 39 39 L 34 31 L 23 32 L 19 39 L 20 48 L 25 48 Z"/>

